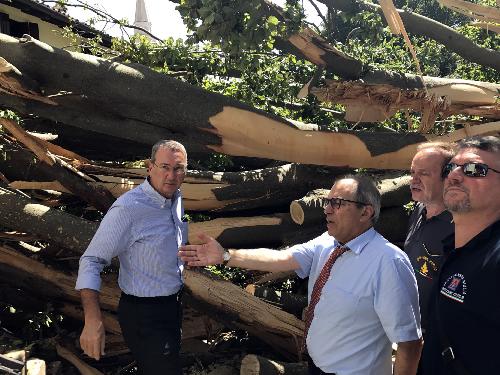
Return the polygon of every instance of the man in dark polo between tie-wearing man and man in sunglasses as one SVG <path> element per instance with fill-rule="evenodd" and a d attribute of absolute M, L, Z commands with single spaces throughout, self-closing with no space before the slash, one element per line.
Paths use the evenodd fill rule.
<path fill-rule="evenodd" d="M 443 259 L 442 240 L 454 232 L 444 207 L 443 166 L 454 146 L 444 142 L 421 144 L 411 163 L 411 195 L 417 202 L 410 216 L 404 251 L 410 258 L 418 283 L 422 331 L 427 329 L 429 296 Z"/>

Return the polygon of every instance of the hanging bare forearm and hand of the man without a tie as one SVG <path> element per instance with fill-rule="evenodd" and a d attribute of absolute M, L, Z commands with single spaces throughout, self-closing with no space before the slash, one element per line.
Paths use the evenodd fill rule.
<path fill-rule="evenodd" d="M 104 355 L 106 333 L 99 306 L 99 292 L 93 289 L 80 290 L 85 325 L 80 335 L 80 346 L 85 354 L 96 360 Z"/>

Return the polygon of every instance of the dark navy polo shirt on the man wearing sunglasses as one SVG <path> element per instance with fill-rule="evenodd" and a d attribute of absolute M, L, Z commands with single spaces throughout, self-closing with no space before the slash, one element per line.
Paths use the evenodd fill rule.
<path fill-rule="evenodd" d="M 465 246 L 445 245 L 449 255 L 433 291 L 422 356 L 424 375 L 455 375 L 443 361 L 436 320 L 471 374 L 500 374 L 500 220 Z"/>

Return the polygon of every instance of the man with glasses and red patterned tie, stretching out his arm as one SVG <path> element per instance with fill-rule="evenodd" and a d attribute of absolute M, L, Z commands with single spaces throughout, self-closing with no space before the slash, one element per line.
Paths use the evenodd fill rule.
<path fill-rule="evenodd" d="M 283 251 L 225 250 L 202 236 L 205 244 L 183 246 L 179 254 L 189 266 L 224 263 L 309 277 L 310 374 L 391 374 L 394 342 L 394 374 L 414 375 L 422 347 L 417 284 L 406 254 L 373 229 L 379 213 L 380 193 L 373 182 L 347 176 L 325 199 L 328 231 L 307 243 Z M 339 248 L 348 250 L 325 276 L 323 268 Z M 326 283 L 313 303 L 319 279 Z"/>

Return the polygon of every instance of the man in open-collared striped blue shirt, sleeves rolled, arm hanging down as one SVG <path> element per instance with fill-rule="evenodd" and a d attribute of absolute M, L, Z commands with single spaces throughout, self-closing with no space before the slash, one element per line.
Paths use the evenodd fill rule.
<path fill-rule="evenodd" d="M 104 354 L 100 273 L 117 256 L 122 290 L 118 317 L 139 370 L 142 374 L 181 374 L 183 264 L 177 249 L 187 240 L 179 190 L 186 168 L 183 145 L 157 142 L 148 178 L 116 200 L 81 257 L 76 289 L 82 298 L 85 326 L 80 344 L 90 357 L 98 360 Z"/>

